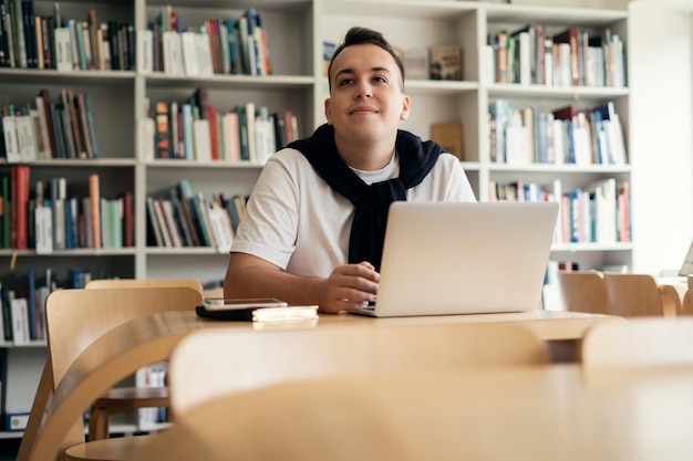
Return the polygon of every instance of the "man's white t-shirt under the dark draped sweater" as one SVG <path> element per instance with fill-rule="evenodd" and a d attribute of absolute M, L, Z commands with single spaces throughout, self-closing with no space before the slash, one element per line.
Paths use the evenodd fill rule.
<path fill-rule="evenodd" d="M 364 182 L 395 178 L 399 156 L 377 171 L 353 170 Z M 476 201 L 459 160 L 441 154 L 407 201 Z M 289 273 L 327 277 L 349 262 L 353 205 L 333 191 L 298 150 L 269 158 L 248 201 L 231 252 L 254 254 Z"/>

